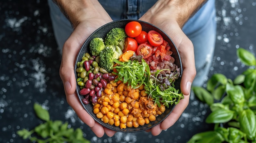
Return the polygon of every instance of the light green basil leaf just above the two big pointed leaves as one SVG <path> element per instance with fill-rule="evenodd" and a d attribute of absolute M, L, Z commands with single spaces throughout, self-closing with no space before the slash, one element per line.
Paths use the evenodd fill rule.
<path fill-rule="evenodd" d="M 243 88 L 239 85 L 231 85 L 227 84 L 226 85 L 226 92 L 227 95 L 230 97 L 230 99 L 238 105 L 242 105 L 245 101 L 245 96 L 243 92 Z"/>

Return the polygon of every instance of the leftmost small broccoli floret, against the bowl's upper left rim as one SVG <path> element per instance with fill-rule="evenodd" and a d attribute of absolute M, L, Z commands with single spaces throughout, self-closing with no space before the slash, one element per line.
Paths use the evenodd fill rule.
<path fill-rule="evenodd" d="M 92 53 L 92 55 L 94 56 L 98 56 L 101 51 L 106 48 L 104 42 L 103 42 L 103 39 L 102 38 L 93 38 L 91 41 L 90 41 L 90 51 Z"/>

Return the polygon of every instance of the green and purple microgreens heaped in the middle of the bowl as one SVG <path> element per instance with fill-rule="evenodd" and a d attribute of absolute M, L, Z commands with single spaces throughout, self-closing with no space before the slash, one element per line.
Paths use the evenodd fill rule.
<path fill-rule="evenodd" d="M 115 81 L 128 83 L 131 88 L 139 88 L 144 84 L 148 97 L 152 97 L 159 107 L 160 103 L 163 103 L 168 108 L 169 105 L 177 104 L 183 99 L 183 94 L 174 88 L 175 79 L 180 76 L 180 68 L 174 72 L 165 69 L 150 73 L 148 64 L 140 56 L 133 56 L 128 62 L 120 62 L 116 59 L 113 61 L 117 63 L 117 66 L 113 67 L 118 73 L 115 73 L 118 75 Z"/>

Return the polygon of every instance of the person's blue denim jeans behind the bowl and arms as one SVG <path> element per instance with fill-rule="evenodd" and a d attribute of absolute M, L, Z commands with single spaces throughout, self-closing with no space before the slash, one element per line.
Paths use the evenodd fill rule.
<path fill-rule="evenodd" d="M 99 0 L 112 20 L 139 19 L 157 0 Z M 60 9 L 48 0 L 52 26 L 60 51 L 72 33 L 72 26 Z M 170 13 L 171 14 L 171 13 Z M 193 86 L 202 86 L 209 73 L 216 40 L 215 0 L 206 4 L 186 22 L 184 33 L 194 45 L 197 75 Z"/>

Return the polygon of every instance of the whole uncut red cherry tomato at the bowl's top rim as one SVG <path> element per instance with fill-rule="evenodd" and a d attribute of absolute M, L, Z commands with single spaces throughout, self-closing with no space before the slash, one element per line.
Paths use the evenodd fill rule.
<path fill-rule="evenodd" d="M 126 24 L 125 32 L 129 37 L 137 37 L 142 31 L 142 26 L 137 21 L 132 21 Z"/>

